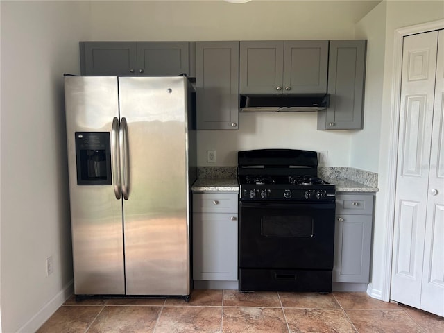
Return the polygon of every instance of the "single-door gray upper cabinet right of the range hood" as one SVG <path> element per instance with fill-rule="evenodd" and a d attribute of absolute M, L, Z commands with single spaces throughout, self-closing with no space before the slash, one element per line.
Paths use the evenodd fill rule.
<path fill-rule="evenodd" d="M 366 40 L 330 41 L 330 107 L 318 112 L 318 130 L 362 128 L 365 69 Z"/>

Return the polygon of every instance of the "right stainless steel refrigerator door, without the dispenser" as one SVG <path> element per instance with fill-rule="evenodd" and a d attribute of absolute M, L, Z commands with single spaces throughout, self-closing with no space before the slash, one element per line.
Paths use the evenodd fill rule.
<path fill-rule="evenodd" d="M 190 293 L 186 87 L 184 77 L 119 78 L 127 295 Z"/>

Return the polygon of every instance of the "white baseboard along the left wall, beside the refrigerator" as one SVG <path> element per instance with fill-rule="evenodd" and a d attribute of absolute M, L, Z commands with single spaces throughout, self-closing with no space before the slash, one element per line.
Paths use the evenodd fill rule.
<path fill-rule="evenodd" d="M 19 328 L 17 333 L 35 332 L 45 321 L 51 317 L 54 312 L 74 293 L 74 280 L 71 280 L 67 285 L 57 293 L 49 302 L 40 309 L 25 325 Z"/>

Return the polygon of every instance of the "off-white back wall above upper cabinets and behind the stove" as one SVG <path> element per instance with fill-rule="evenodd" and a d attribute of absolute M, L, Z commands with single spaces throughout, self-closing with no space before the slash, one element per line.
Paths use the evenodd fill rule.
<path fill-rule="evenodd" d="M 353 39 L 355 23 L 376 3 L 98 1 L 92 6 L 92 40 Z M 348 166 L 351 135 L 316 130 L 316 113 L 239 114 L 237 131 L 198 132 L 198 165 L 234 166 L 244 149 L 298 148 L 328 151 L 327 165 Z M 207 149 L 216 150 L 215 164 L 207 164 Z M 376 165 L 364 169 L 375 171 Z"/>

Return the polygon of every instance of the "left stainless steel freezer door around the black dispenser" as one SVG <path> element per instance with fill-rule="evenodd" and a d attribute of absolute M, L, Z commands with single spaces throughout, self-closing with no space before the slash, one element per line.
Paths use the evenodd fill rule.
<path fill-rule="evenodd" d="M 110 133 L 113 117 L 119 117 L 118 101 L 115 77 L 65 77 L 74 293 L 77 295 L 125 293 L 121 200 L 116 199 L 113 185 L 77 185 L 74 134 Z M 112 135 L 110 138 L 113 140 Z M 111 159 L 115 158 L 116 152 L 111 148 Z"/>

